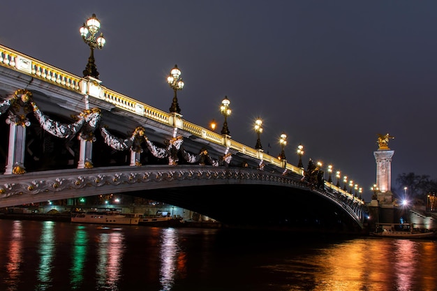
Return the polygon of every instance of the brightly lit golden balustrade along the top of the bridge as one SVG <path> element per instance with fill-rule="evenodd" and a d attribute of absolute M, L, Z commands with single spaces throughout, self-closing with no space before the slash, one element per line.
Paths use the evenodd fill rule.
<path fill-rule="evenodd" d="M 26 54 L 22 54 L 3 45 L 0 45 L 0 66 L 10 68 L 11 70 L 20 71 L 20 73 L 31 75 L 38 80 L 43 80 L 51 84 L 56 84 L 59 87 L 75 91 L 78 94 L 84 94 L 84 87 L 87 86 L 87 82 L 94 82 L 92 80 L 88 80 L 87 78 L 78 77 L 77 75 L 68 73 L 65 70 L 61 70 L 51 66 L 50 64 L 46 64 L 43 61 L 39 61 L 38 59 L 34 59 Z M 119 107 L 121 110 L 126 110 L 132 114 L 138 114 L 154 121 L 158 121 L 161 124 L 173 126 L 172 114 L 158 110 L 145 103 L 141 103 L 140 101 L 131 97 L 119 94 L 118 92 L 108 89 L 107 87 L 99 87 L 101 88 L 102 93 L 98 96 L 94 96 L 95 98 L 105 100 L 106 102 Z M 207 128 L 203 128 L 184 119 L 181 120 L 182 125 L 179 125 L 179 128 L 186 130 L 192 135 L 202 137 L 202 139 L 208 140 L 209 142 L 222 144 L 230 149 L 237 150 L 242 154 L 251 156 L 252 158 L 257 158 L 264 163 L 269 163 L 270 165 L 283 168 L 284 170 L 291 171 L 295 174 L 302 176 L 304 174 L 304 169 L 296 167 L 295 165 L 291 165 L 290 163 L 286 163 L 286 161 L 282 161 L 279 158 L 270 156 L 269 154 L 265 154 L 262 150 L 247 147 L 245 144 L 241 144 L 235 140 L 227 139 L 224 135 L 215 133 Z M 331 186 L 334 185 L 331 184 Z M 339 188 L 338 191 L 344 195 L 350 195 L 347 191 L 341 190 L 341 188 Z"/>

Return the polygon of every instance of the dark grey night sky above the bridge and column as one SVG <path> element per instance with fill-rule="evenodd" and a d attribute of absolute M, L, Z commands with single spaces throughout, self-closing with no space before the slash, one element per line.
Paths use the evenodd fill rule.
<path fill-rule="evenodd" d="M 276 156 L 288 135 L 309 158 L 364 189 L 376 181 L 378 133 L 390 133 L 398 174 L 437 179 L 437 1 L 2 1 L 0 43 L 82 76 L 92 13 L 107 40 L 95 52 L 106 87 L 168 112 L 170 69 L 182 70 L 184 119 L 228 118 L 233 140 Z M 270 145 L 270 147 L 268 147 Z M 402 185 L 398 185 L 403 188 Z"/>

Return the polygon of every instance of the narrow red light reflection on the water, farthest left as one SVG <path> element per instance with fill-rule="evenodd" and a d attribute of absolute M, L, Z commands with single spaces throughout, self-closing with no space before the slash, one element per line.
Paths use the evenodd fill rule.
<path fill-rule="evenodd" d="M 23 262 L 22 236 L 22 222 L 14 221 L 8 251 L 9 260 L 8 263 L 6 263 L 8 276 L 5 278 L 5 281 L 8 284 L 8 291 L 17 290 L 17 282 L 21 275 L 20 265 Z"/>

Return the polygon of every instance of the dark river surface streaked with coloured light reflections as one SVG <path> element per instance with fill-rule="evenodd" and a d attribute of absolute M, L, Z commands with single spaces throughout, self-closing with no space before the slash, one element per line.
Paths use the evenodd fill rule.
<path fill-rule="evenodd" d="M 437 240 L 0 220 L 0 290 L 437 290 Z"/>

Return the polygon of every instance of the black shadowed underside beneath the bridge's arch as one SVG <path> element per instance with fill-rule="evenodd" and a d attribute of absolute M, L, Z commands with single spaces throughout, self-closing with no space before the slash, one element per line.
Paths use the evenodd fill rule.
<path fill-rule="evenodd" d="M 362 228 L 334 202 L 304 189 L 265 185 L 215 185 L 125 193 L 165 202 L 220 221 L 226 227 L 299 232 L 357 233 Z"/>

